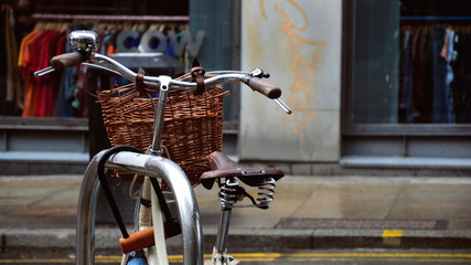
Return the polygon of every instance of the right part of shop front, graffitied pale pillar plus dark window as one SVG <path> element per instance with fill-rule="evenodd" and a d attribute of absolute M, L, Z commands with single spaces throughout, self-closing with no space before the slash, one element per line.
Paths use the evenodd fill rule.
<path fill-rule="evenodd" d="M 279 118 L 250 99 L 270 109 L 260 118 L 270 124 L 253 129 L 260 115 L 243 103 L 239 156 L 269 150 L 292 161 L 292 173 L 469 176 L 471 13 L 462 7 L 243 1 L 243 67 L 269 65 L 295 114 Z"/>

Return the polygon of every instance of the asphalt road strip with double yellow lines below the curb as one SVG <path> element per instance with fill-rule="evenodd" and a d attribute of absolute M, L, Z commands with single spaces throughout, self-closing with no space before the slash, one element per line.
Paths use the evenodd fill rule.
<path fill-rule="evenodd" d="M 287 253 L 234 253 L 238 265 L 299 265 L 299 264 L 329 264 L 329 265 L 392 265 L 392 264 L 471 264 L 471 251 L 392 251 L 392 250 L 332 250 L 332 251 L 297 251 Z M 205 261 L 211 256 L 205 255 Z M 119 264 L 120 256 L 98 256 L 96 264 Z M 170 256 L 171 264 L 181 264 L 182 256 Z M 74 257 L 64 258 L 0 258 L 0 264 L 22 265 L 63 265 L 74 264 Z M 210 264 L 210 263 L 207 263 Z"/>

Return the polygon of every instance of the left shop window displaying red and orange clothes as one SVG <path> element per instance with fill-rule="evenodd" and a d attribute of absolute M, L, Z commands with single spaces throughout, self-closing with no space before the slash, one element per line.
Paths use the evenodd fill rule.
<path fill-rule="evenodd" d="M 176 34 L 189 31 L 188 19 L 182 22 L 153 20 L 128 21 L 126 15 L 189 15 L 189 1 L 124 1 L 78 0 L 74 4 L 56 0 L 2 1 L 0 35 L 0 116 L 83 118 L 88 116 L 88 73 L 82 67 L 63 73 L 54 72 L 35 78 L 32 73 L 49 66 L 52 56 L 69 52 L 66 35 L 72 30 L 95 30 L 100 34 L 98 52 L 118 51 L 117 36 L 132 30 L 142 35 L 147 30 Z M 87 14 L 94 19 L 73 19 Z M 116 21 L 100 20 L 100 15 L 116 15 Z M 50 17 L 47 17 L 50 15 Z M 124 19 L 119 19 L 124 17 Z M 71 19 L 72 18 L 72 19 Z M 3 23 L 2 23 L 3 25 Z M 136 38 L 138 39 L 138 38 Z M 132 40 L 135 41 L 135 40 Z M 170 50 L 170 49 L 169 49 Z M 178 60 L 185 56 L 165 51 Z M 172 53 L 173 52 L 173 53 Z M 188 61 L 188 60 L 186 60 Z M 99 84 L 101 86 L 103 84 Z M 103 85 L 103 87 L 107 87 Z"/>

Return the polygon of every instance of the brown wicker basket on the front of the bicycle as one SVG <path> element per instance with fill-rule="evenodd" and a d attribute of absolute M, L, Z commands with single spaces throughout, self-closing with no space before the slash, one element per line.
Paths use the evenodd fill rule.
<path fill-rule="evenodd" d="M 157 87 L 146 87 L 150 94 Z M 211 170 L 208 155 L 223 145 L 223 97 L 221 86 L 206 87 L 202 95 L 169 91 L 163 121 L 162 145 L 172 161 L 180 165 L 193 186 Z M 152 142 L 153 104 L 158 98 L 141 97 L 135 84 L 103 91 L 99 103 L 108 138 L 113 146 L 130 145 L 146 151 Z M 117 172 L 129 179 L 131 176 Z M 133 177 L 133 176 L 132 176 Z"/>

